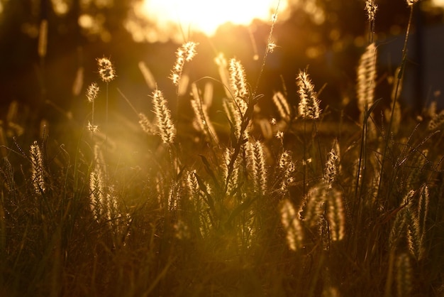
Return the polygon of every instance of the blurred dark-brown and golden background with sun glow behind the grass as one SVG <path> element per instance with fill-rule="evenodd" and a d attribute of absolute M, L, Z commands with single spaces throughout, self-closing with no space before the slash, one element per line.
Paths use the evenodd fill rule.
<path fill-rule="evenodd" d="M 388 103 L 409 8 L 405 0 L 375 3 L 377 97 Z M 86 88 L 98 82 L 102 94 L 106 89 L 96 69 L 96 58 L 101 57 L 109 58 L 116 68 L 116 80 L 109 83 L 111 110 L 134 116 L 116 91 L 119 88 L 135 109 L 150 111 L 152 90 L 138 67 L 143 62 L 165 97 L 172 98 L 174 112 L 176 90 L 167 77 L 174 52 L 184 41 L 199 43 L 198 55 L 184 69 L 190 81 L 217 79 L 213 61 L 222 52 L 226 58 L 241 60 L 248 81 L 255 85 L 277 4 L 275 0 L 0 0 L 2 124 L 38 125 L 42 118 L 83 124 L 90 109 Z M 401 95 L 414 114 L 433 100 L 444 107 L 443 11 L 443 0 L 422 0 L 414 10 Z M 48 42 L 44 55 L 39 55 L 43 20 L 48 21 Z M 272 41 L 277 48 L 267 58 L 259 93 L 270 98 L 274 91 L 286 91 L 296 104 L 296 74 L 309 67 L 316 90 L 322 88 L 323 109 L 355 112 L 355 72 L 369 43 L 364 0 L 281 0 Z M 223 97 L 220 85 L 214 92 L 215 99 L 218 92 Z M 11 102 L 18 103 L 12 111 Z"/>

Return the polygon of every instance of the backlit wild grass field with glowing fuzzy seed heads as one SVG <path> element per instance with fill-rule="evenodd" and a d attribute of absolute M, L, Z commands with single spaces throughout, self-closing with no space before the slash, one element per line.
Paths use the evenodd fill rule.
<path fill-rule="evenodd" d="M 377 4 L 362 9 L 355 118 L 321 110 L 305 65 L 272 97 L 223 54 L 209 65 L 219 77 L 187 82 L 188 41 L 165 65 L 175 98 L 140 63 L 151 107 L 135 109 L 99 57 L 69 141 L 3 127 L 0 296 L 444 296 L 444 113 L 404 111 L 406 46 L 392 92 L 375 97 Z M 44 63 L 44 40 L 38 53 Z M 111 93 L 134 110 L 128 126 L 108 114 Z"/>

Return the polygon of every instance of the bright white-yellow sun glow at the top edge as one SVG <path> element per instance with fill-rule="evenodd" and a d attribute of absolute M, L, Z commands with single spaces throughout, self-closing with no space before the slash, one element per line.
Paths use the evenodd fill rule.
<path fill-rule="evenodd" d="M 143 0 L 135 14 L 155 24 L 160 33 L 182 27 L 213 36 L 224 23 L 248 26 L 254 19 L 270 21 L 278 4 L 279 12 L 287 9 L 287 0 Z"/>

